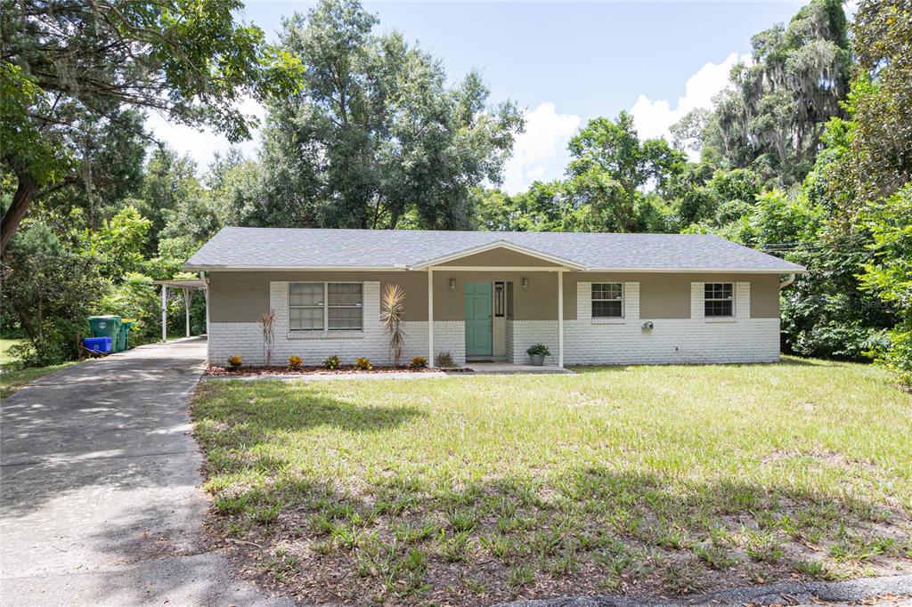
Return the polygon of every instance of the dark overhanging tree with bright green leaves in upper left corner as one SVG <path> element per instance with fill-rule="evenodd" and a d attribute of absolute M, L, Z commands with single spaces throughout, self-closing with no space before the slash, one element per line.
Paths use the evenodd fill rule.
<path fill-rule="evenodd" d="M 135 129 L 125 108 L 249 136 L 237 108 L 295 87 L 297 62 L 238 25 L 240 0 L 2 0 L 2 169 L 16 190 L 0 253 L 43 189 L 76 179 L 76 150 L 97 129 Z M 7 96 L 7 94 L 9 94 Z M 83 119 L 77 119 L 82 117 Z"/>

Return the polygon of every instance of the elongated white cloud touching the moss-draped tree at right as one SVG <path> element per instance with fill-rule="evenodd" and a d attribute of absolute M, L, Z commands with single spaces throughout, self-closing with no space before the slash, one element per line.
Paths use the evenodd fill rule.
<path fill-rule="evenodd" d="M 732 53 L 721 63 L 708 63 L 700 67 L 696 74 L 688 78 L 684 85 L 684 97 L 678 98 L 678 105 L 675 108 L 671 108 L 671 104 L 664 99 L 653 101 L 645 95 L 640 95 L 630 110 L 640 138 L 668 138 L 668 127 L 683 118 L 691 109 L 711 108 L 712 98 L 728 86 L 731 67 L 739 60 L 750 62 L 751 57 L 738 57 L 737 53 Z"/>

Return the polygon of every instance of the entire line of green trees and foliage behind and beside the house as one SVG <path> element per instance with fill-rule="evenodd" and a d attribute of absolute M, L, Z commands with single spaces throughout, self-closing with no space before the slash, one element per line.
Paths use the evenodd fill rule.
<path fill-rule="evenodd" d="M 154 338 L 151 281 L 176 275 L 223 225 L 706 231 L 811 270 L 783 292 L 787 351 L 875 357 L 912 383 L 903 0 L 864 1 L 854 24 L 837 0 L 814 0 L 754 36 L 751 62 L 670 141 L 640 140 L 624 112 L 595 118 L 571 140 L 564 179 L 513 196 L 492 184 L 523 129 L 520 108 L 492 103 L 476 73 L 449 85 L 440 60 L 378 34 L 358 3 L 286 19 L 276 46 L 233 23 L 234 2 L 206 4 L 220 26 L 171 29 L 180 2 L 136 6 L 61 16 L 3 0 L 2 328 L 29 338 L 32 364 L 75 355 L 90 313 L 139 318 Z M 60 19 L 85 36 L 55 39 Z M 142 37 L 150 24 L 164 40 Z M 147 49 L 135 69 L 137 46 L 118 55 L 105 27 Z M 118 88 L 125 78 L 132 86 Z M 244 97 L 267 108 L 255 159 L 231 151 L 196 167 L 143 130 L 159 111 L 244 139 Z M 182 303 L 171 305 L 182 331 Z M 202 331 L 202 297 L 192 323 Z"/>

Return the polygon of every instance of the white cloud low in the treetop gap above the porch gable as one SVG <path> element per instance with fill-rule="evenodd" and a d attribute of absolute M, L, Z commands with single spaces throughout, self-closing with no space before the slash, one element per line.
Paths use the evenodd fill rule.
<path fill-rule="evenodd" d="M 523 191 L 534 180 L 560 177 L 566 164 L 566 143 L 582 118 L 558 114 L 554 103 L 525 110 L 525 132 L 513 141 L 513 156 L 503 170 L 503 190 Z"/>

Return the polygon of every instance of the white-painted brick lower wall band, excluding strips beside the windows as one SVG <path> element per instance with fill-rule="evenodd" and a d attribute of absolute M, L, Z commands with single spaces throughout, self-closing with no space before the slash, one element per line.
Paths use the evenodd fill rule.
<path fill-rule="evenodd" d="M 734 323 L 700 320 L 657 320 L 655 328 L 640 323 L 592 324 L 566 321 L 565 365 L 629 365 L 637 363 L 758 363 L 779 360 L 779 320 L 751 318 Z M 427 323 L 406 323 L 403 360 L 428 355 Z M 508 321 L 507 358 L 528 364 L 530 345 L 548 346 L 552 356 L 545 365 L 556 365 L 556 321 Z M 328 355 L 339 355 L 350 364 L 368 356 L 375 364 L 389 361 L 385 335 L 341 339 L 282 339 L 276 336 L 273 364 L 283 365 L 290 355 L 301 356 L 306 365 L 319 364 Z M 461 322 L 434 323 L 434 349 L 450 350 L 458 365 L 465 363 L 465 328 Z M 232 355 L 248 364 L 262 364 L 263 337 L 255 323 L 214 323 L 210 327 L 211 362 L 223 365 Z"/>

